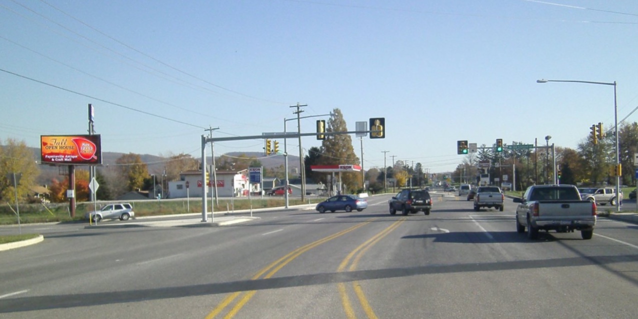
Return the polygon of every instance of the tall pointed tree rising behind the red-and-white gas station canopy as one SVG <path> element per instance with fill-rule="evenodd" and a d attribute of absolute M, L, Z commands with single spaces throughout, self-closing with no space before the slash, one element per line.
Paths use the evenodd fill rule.
<path fill-rule="evenodd" d="M 332 113 L 334 116 L 330 117 L 328 120 L 326 131 L 328 133 L 348 131 L 348 126 L 346 125 L 346 121 L 343 119 L 341 110 L 339 110 L 339 108 L 335 108 L 332 110 Z M 352 137 L 348 134 L 326 136 L 325 140 L 322 142 L 322 151 L 322 165 L 359 165 L 360 163 L 352 146 Z M 343 182 L 350 192 L 362 188 L 362 181 L 359 172 L 341 173 L 341 182 Z"/>

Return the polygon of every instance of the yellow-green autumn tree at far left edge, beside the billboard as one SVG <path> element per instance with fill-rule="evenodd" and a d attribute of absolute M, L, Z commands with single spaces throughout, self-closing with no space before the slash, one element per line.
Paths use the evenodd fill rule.
<path fill-rule="evenodd" d="M 24 200 L 31 192 L 35 184 L 36 177 L 40 175 L 40 168 L 36 165 L 33 152 L 27 145 L 8 138 L 4 146 L 0 145 L 0 200 L 15 204 L 15 188 L 13 173 L 20 175 L 20 182 L 17 184 L 18 200 Z"/>

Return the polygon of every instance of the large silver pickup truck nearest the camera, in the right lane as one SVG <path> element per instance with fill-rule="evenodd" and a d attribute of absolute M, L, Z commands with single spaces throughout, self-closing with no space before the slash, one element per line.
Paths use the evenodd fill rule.
<path fill-rule="evenodd" d="M 582 239 L 591 239 L 596 225 L 596 203 L 581 200 L 574 185 L 530 186 L 523 197 L 514 198 L 516 231 L 525 232 L 530 239 L 538 238 L 538 231 L 581 231 Z"/>

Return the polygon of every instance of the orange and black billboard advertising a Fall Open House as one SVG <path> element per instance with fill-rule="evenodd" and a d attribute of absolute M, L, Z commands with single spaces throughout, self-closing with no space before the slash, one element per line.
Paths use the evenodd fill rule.
<path fill-rule="evenodd" d="M 41 163 L 58 165 L 100 165 L 100 135 L 41 135 Z"/>

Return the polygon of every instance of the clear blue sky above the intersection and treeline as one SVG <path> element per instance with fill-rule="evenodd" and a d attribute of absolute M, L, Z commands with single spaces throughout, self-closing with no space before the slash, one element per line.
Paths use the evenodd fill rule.
<path fill-rule="evenodd" d="M 463 160 L 457 140 L 575 148 L 613 126 L 613 87 L 539 78 L 617 81 L 618 119 L 638 107 L 635 0 L 7 0 L 0 28 L 0 140 L 31 147 L 87 133 L 92 103 L 103 151 L 198 158 L 204 128 L 283 131 L 299 102 L 302 115 L 341 109 L 349 130 L 385 117 L 387 138 L 363 140 L 366 169 L 389 151 L 388 165 L 445 172 Z"/>

